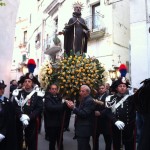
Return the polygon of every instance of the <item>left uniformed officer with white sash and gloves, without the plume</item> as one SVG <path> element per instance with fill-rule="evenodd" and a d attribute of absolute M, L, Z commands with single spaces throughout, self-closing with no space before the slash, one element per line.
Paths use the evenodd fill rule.
<path fill-rule="evenodd" d="M 39 90 L 38 81 L 32 73 L 22 76 L 20 83 L 23 85 L 22 89 L 13 92 L 18 150 L 22 150 L 23 143 L 28 150 L 37 150 L 38 117 L 43 110 L 44 93 Z"/>

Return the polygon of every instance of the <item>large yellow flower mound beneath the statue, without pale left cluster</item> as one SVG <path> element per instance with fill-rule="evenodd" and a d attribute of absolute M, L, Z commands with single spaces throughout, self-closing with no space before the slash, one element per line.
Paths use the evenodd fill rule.
<path fill-rule="evenodd" d="M 99 60 L 84 55 L 65 57 L 58 63 L 58 68 L 60 93 L 69 97 L 75 97 L 83 84 L 92 90 L 97 89 L 104 79 L 105 69 Z"/>

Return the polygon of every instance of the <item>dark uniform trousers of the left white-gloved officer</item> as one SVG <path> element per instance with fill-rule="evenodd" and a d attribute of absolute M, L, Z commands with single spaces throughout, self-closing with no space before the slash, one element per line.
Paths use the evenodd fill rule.
<path fill-rule="evenodd" d="M 17 124 L 17 149 L 22 150 L 25 144 L 28 150 L 37 150 L 38 129 L 36 121 L 32 121 L 26 128 L 22 123 Z"/>

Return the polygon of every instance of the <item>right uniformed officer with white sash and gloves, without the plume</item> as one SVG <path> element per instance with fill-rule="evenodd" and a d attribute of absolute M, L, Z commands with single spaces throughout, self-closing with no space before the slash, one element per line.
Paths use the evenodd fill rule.
<path fill-rule="evenodd" d="M 128 95 L 129 82 L 120 77 L 112 85 L 116 94 L 106 98 L 107 115 L 112 120 L 112 138 L 115 150 L 134 150 L 135 107 L 133 96 Z"/>

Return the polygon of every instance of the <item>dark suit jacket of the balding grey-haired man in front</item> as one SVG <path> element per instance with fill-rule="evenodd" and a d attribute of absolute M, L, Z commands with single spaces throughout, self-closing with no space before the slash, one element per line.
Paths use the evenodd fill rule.
<path fill-rule="evenodd" d="M 77 136 L 89 137 L 93 132 L 95 104 L 91 96 L 85 97 L 78 108 L 73 109 L 76 114 L 75 132 Z"/>

